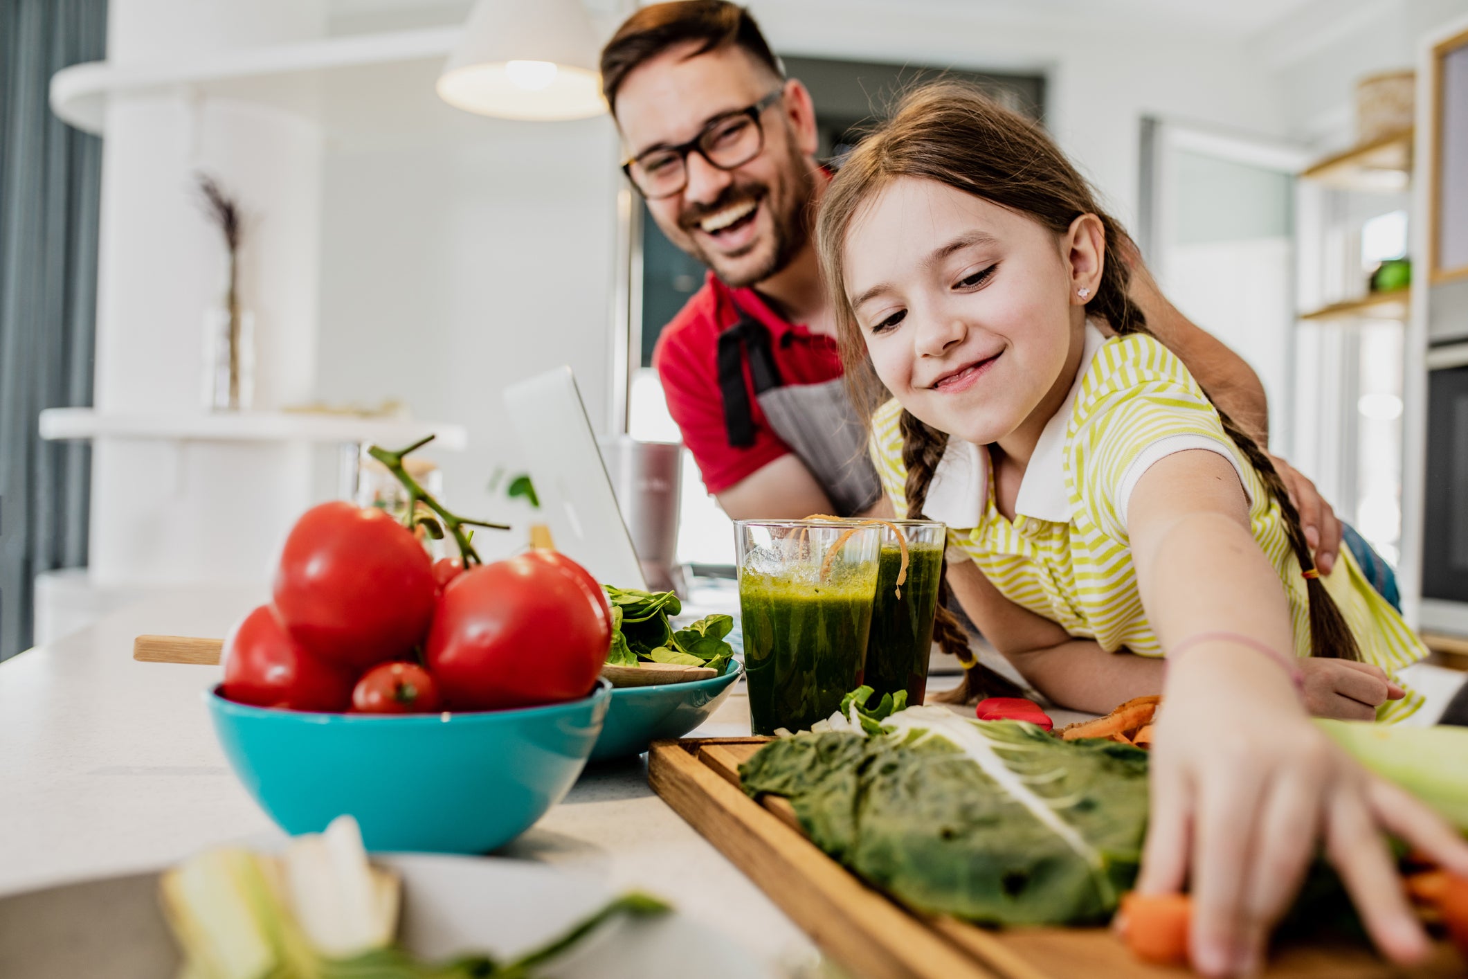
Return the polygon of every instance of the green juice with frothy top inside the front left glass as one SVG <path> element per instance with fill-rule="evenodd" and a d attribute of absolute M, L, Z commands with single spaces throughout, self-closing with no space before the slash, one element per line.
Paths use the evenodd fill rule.
<path fill-rule="evenodd" d="M 803 731 L 862 685 L 872 624 L 872 565 L 812 584 L 741 571 L 744 671 L 755 734 Z"/>

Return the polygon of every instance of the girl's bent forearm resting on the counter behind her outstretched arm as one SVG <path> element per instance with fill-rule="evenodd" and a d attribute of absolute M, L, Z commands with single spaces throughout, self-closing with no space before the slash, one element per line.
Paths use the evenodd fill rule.
<path fill-rule="evenodd" d="M 1163 688 L 1163 660 L 1108 653 L 1092 638 L 1072 638 L 1058 624 L 1000 594 L 972 561 L 948 565 L 948 587 L 984 637 L 1057 706 L 1105 713 Z"/>

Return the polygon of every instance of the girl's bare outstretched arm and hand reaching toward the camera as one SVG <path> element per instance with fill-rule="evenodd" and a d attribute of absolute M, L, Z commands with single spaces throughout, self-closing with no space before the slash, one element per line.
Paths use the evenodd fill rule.
<path fill-rule="evenodd" d="M 1422 958 L 1427 938 L 1383 834 L 1456 873 L 1468 873 L 1468 844 L 1309 722 L 1290 674 L 1289 605 L 1233 467 L 1207 451 L 1167 456 L 1142 476 L 1126 520 L 1148 619 L 1166 649 L 1186 647 L 1169 663 L 1138 889 L 1186 882 L 1195 967 L 1252 973 L 1323 844 L 1376 944 Z"/>

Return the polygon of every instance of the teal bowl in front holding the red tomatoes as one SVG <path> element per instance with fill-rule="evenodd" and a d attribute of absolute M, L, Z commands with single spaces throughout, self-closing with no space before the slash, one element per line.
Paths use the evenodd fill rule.
<path fill-rule="evenodd" d="M 251 707 L 204 694 L 235 775 L 291 835 L 351 813 L 368 850 L 487 853 L 571 790 L 612 687 L 548 707 L 360 715 Z"/>

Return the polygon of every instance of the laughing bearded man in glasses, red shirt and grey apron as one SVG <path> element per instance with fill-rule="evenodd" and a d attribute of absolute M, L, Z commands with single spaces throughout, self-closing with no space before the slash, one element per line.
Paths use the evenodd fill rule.
<path fill-rule="evenodd" d="M 634 13 L 602 51 L 602 88 L 627 176 L 668 239 L 709 267 L 653 355 L 705 486 L 733 518 L 881 511 L 810 241 L 829 181 L 810 92 L 727 0 Z M 1262 445 L 1258 377 L 1167 302 L 1139 257 L 1132 269 L 1148 326 Z M 1309 480 L 1276 465 L 1329 572 L 1340 524 Z"/>

